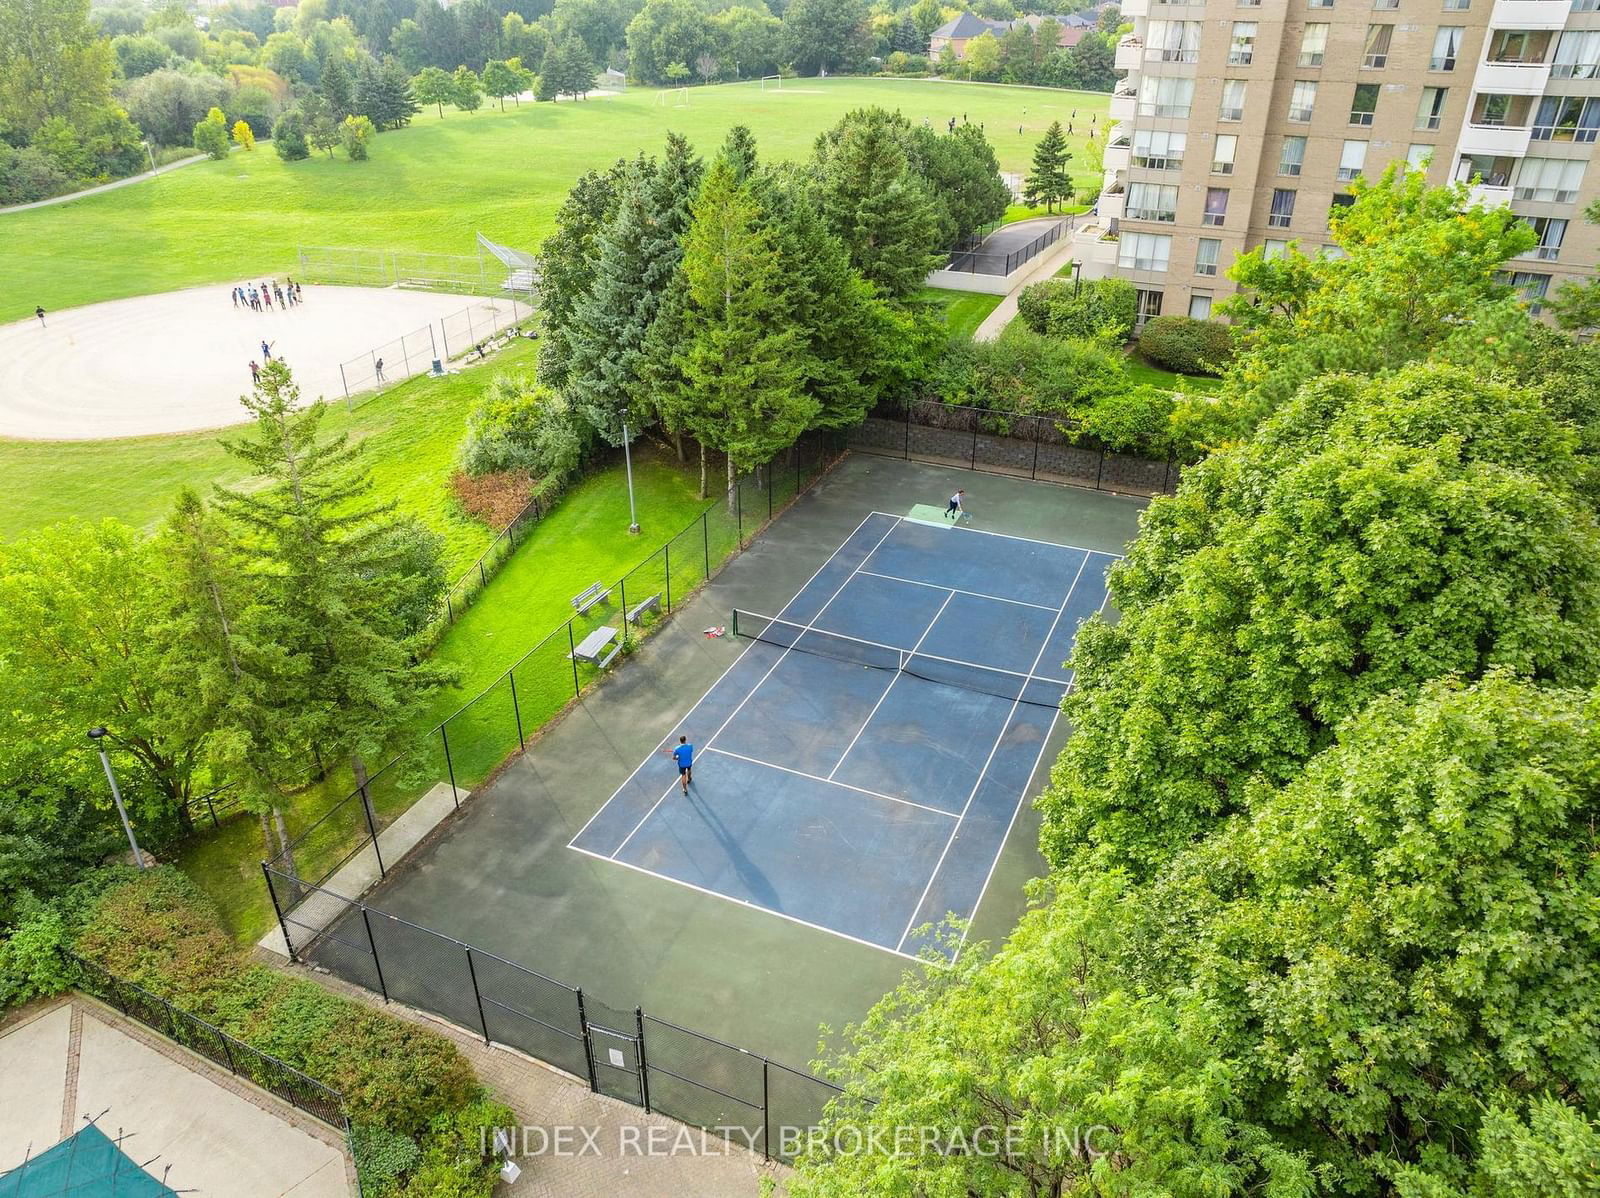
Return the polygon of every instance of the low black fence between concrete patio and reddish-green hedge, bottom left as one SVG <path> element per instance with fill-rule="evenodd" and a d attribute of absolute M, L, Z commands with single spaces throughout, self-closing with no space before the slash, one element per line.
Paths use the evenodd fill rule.
<path fill-rule="evenodd" d="M 222 1028 L 173 1006 L 160 995 L 107 972 L 94 961 L 70 950 L 62 952 L 67 961 L 75 966 L 78 990 L 102 998 L 130 1019 L 138 1019 L 154 1032 L 198 1052 L 234 1076 L 253 1081 L 277 1094 L 296 1110 L 322 1120 L 349 1137 L 350 1121 L 344 1113 L 344 1097 L 336 1089 L 330 1089 L 293 1065 L 285 1065 L 259 1048 L 235 1040 Z"/>

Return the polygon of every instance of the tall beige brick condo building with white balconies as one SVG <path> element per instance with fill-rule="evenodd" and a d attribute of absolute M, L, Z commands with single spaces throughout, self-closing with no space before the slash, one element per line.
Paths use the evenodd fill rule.
<path fill-rule="evenodd" d="M 1208 317 L 1234 256 L 1331 246 L 1350 181 L 1394 160 L 1470 182 L 1539 234 L 1510 277 L 1587 277 L 1600 229 L 1600 0 L 1125 0 L 1085 277 L 1154 315 Z"/>

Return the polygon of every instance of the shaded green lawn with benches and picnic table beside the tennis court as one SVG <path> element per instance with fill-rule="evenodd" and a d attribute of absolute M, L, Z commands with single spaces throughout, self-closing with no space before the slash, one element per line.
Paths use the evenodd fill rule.
<path fill-rule="evenodd" d="M 493 686 L 547 633 L 560 629 L 573 614 L 573 595 L 595 581 L 614 582 L 691 525 L 707 505 L 698 497 L 698 465 L 680 467 L 670 454 L 645 449 L 634 457 L 638 536 L 627 531 L 627 485 L 621 462 L 590 473 L 542 521 L 523 531 L 515 553 L 474 605 L 443 632 L 434 649 L 435 661 L 456 667 L 459 681 L 435 696 L 424 713 L 395 737 L 397 750 L 424 745 L 424 752 L 408 768 L 387 773 L 378 773 L 387 755 L 370 763 L 374 771 L 373 808 L 379 821 L 400 814 L 430 785 L 448 777 L 434 728 Z M 613 595 L 608 608 L 595 611 L 595 622 L 614 622 L 618 609 L 619 597 Z M 557 649 L 517 673 L 523 733 L 528 736 L 571 697 L 565 635 Z M 517 725 L 504 683 L 450 723 L 451 768 L 462 787 L 477 785 L 515 749 Z M 296 795 L 285 806 L 290 833 L 299 835 L 350 787 L 349 769 L 341 766 L 325 784 Z M 330 833 L 326 841 L 315 841 L 298 854 L 298 867 L 306 877 L 322 875 L 355 843 L 360 829 L 352 825 L 352 819 L 358 819 L 358 806 L 349 805 L 346 813 L 350 819 L 325 825 Z M 202 832 L 182 846 L 178 859 L 179 867 L 216 902 L 224 926 L 242 942 L 259 939 L 274 918 L 261 859 L 259 824 L 250 816 L 237 816 L 218 830 Z"/>

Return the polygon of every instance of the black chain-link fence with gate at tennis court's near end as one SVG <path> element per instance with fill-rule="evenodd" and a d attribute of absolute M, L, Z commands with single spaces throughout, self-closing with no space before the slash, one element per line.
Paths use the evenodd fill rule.
<path fill-rule="evenodd" d="M 485 1044 L 538 1057 L 595 1094 L 792 1161 L 842 1092 L 803 1070 L 637 1006 L 608 1006 L 504 956 L 264 869 L 274 893 L 302 894 L 282 920 L 294 960 L 314 960 L 386 1003 L 448 1019 Z"/>

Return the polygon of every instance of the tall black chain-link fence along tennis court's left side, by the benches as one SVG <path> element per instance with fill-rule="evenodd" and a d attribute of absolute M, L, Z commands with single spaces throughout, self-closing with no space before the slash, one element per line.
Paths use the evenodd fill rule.
<path fill-rule="evenodd" d="M 365 784 L 339 773 L 333 777 L 342 782 L 323 784 L 334 787 L 334 797 L 320 814 L 307 811 L 310 803 L 296 805 L 286 813 L 290 845 L 267 862 L 282 880 L 272 886 L 278 915 L 291 915 L 304 900 L 298 878 L 320 885 L 347 865 L 365 870 L 373 881 L 387 877 L 395 862 L 384 857 L 381 835 L 413 801 L 446 784 L 459 808 L 462 790 L 526 747 L 528 736 L 610 672 L 579 656 L 587 637 L 610 627 L 619 656 L 630 653 L 776 512 L 821 478 L 840 453 L 835 437 L 813 433 L 739 477 L 677 536 L 611 581 L 602 601 L 552 629 L 416 744 L 398 745 L 400 752 Z M 267 877 L 272 885 L 274 875 Z"/>

